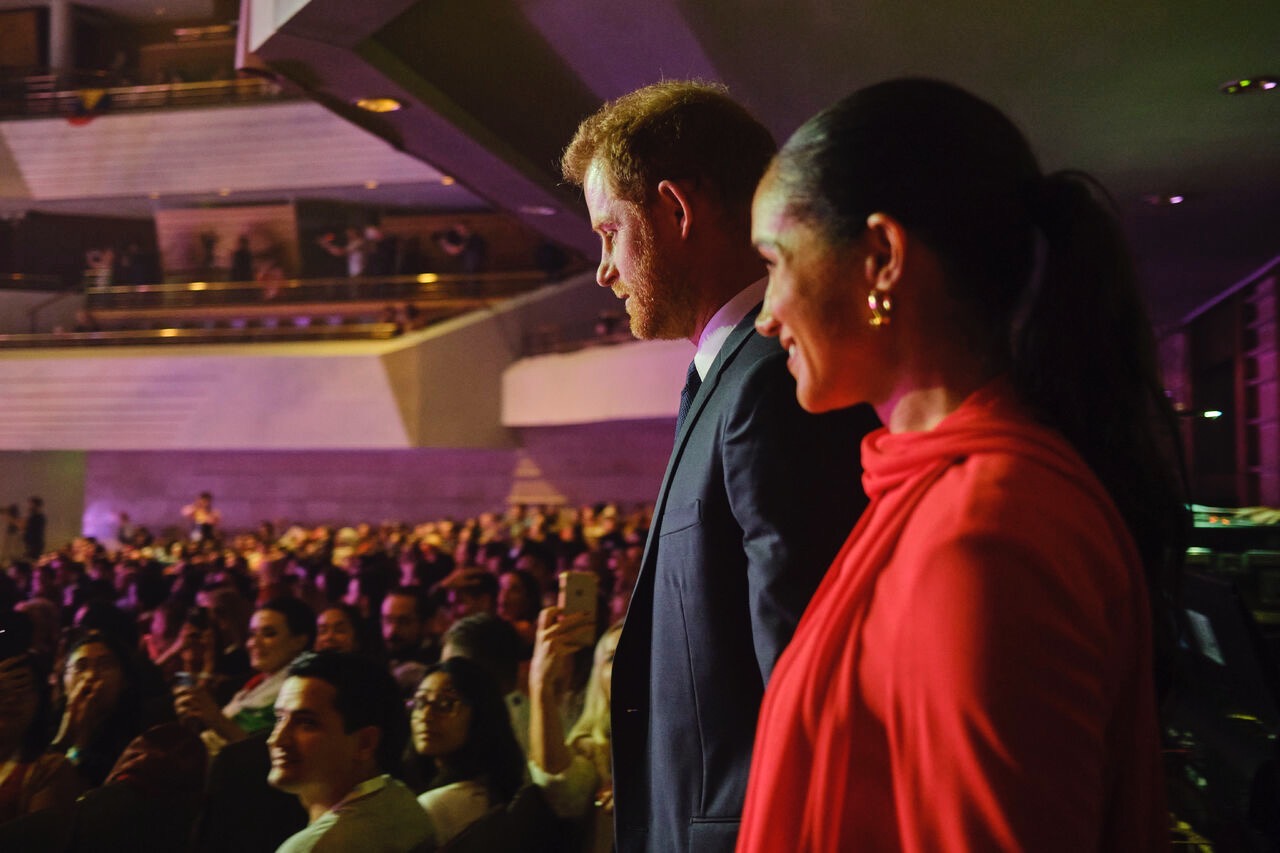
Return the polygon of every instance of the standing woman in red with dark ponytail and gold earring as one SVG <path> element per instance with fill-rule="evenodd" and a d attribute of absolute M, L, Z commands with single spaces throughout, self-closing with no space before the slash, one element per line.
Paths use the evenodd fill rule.
<path fill-rule="evenodd" d="M 765 692 L 739 850 L 1167 849 L 1152 624 L 1185 511 L 1100 188 L 892 81 L 796 131 L 753 240 L 800 403 L 886 426 Z"/>

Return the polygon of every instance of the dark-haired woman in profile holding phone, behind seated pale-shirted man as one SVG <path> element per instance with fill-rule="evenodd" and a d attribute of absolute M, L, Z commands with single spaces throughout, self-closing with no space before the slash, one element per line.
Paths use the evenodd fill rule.
<path fill-rule="evenodd" d="M 201 736 L 210 756 L 223 744 L 244 739 L 271 727 L 275 697 L 287 678 L 289 663 L 311 647 L 315 615 L 297 598 L 273 598 L 250 619 L 248 660 L 257 672 L 219 710 L 212 694 L 200 684 L 179 686 L 174 708 L 183 720 L 206 726 Z"/>

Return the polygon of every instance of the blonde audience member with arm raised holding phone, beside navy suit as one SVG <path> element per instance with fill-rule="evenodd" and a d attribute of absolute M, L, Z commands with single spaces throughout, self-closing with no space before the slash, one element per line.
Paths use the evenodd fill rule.
<path fill-rule="evenodd" d="M 559 620 L 548 607 L 538 617 L 538 642 L 529 669 L 529 774 L 561 817 L 591 813 L 582 849 L 607 853 L 613 848 L 613 772 L 609 761 L 609 697 L 613 651 L 622 625 L 604 631 L 595 644 L 595 660 L 586 684 L 582 715 L 564 735 L 562 708 L 572 656 L 580 647 L 573 633 L 586 616 Z"/>

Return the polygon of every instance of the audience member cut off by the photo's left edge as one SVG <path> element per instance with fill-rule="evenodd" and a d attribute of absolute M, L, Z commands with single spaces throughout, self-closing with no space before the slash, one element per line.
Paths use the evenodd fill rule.
<path fill-rule="evenodd" d="M 29 646 L 22 613 L 0 615 L 0 824 L 69 807 L 83 784 L 56 752 L 46 752 L 52 708 L 47 674 Z"/>

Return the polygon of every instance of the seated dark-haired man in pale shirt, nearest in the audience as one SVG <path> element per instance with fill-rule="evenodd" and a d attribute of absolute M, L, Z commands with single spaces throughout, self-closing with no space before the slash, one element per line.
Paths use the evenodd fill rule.
<path fill-rule="evenodd" d="M 385 670 L 340 652 L 294 661 L 275 701 L 268 781 L 296 794 L 310 822 L 280 853 L 396 853 L 422 844 L 430 822 L 390 775 L 406 735 L 399 690 Z"/>

